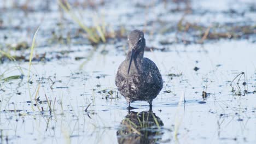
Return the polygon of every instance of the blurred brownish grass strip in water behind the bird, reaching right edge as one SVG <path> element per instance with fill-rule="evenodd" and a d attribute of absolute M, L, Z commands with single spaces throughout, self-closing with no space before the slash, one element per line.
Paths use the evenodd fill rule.
<path fill-rule="evenodd" d="M 188 43 L 204 43 L 205 40 L 219 40 L 219 39 L 248 39 L 249 35 L 256 33 L 255 25 L 237 25 L 224 23 L 209 23 L 202 24 L 199 22 L 186 21 L 183 16 L 177 23 L 176 27 L 176 41 Z M 165 30 L 170 32 L 171 29 Z M 193 40 L 188 40 L 185 35 L 190 35 Z"/>

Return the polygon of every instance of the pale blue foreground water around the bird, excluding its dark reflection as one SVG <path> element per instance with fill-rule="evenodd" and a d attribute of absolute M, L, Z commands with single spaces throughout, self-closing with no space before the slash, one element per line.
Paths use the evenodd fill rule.
<path fill-rule="evenodd" d="M 33 84 L 29 85 L 32 99 L 36 97 L 35 90 L 40 83 L 37 98 L 46 100 L 46 95 L 51 100 L 51 113 L 45 101 L 42 104 L 28 101 L 31 98 L 26 77 L 5 82 L 1 86 L 5 91 L 1 102 L 1 110 L 5 110 L 1 112 L 2 135 L 8 135 L 8 139 L 14 142 L 66 142 L 65 135 L 70 135 L 72 142 L 117 142 L 117 131 L 128 110 L 125 99 L 117 96 L 114 76 L 125 56 L 117 55 L 110 45 L 104 49 L 109 50 L 108 55 L 95 52 L 82 70 L 79 70 L 81 61 L 70 59 L 86 55 L 83 51 L 74 52 L 70 59 L 63 61 L 33 64 L 32 71 L 36 72 L 32 75 Z M 153 101 L 153 112 L 163 123 L 158 141 L 174 142 L 174 127 L 179 125 L 178 141 L 181 143 L 191 140 L 253 143 L 256 63 L 251 57 L 254 53 L 253 44 L 246 40 L 219 41 L 203 46 L 176 45 L 170 52 L 146 52 L 145 56 L 158 64 L 165 82 Z M 27 63 L 21 67 L 27 67 Z M 199 70 L 195 71 L 194 67 Z M 231 92 L 230 82 L 241 71 L 245 71 L 247 85 L 242 85 L 241 78 L 242 95 L 236 95 Z M 179 77 L 167 76 L 181 73 Z M 49 79 L 56 82 L 53 84 Z M 106 93 L 102 92 L 104 89 Z M 243 92 L 245 89 L 247 94 Z M 237 87 L 235 90 L 238 92 Z M 113 95 L 107 94 L 108 91 L 113 91 Z M 202 91 L 210 96 L 203 99 Z M 21 94 L 14 94 L 17 92 Z M 149 110 L 148 104 L 141 101 L 131 106 L 136 107 L 133 111 L 137 112 Z"/>

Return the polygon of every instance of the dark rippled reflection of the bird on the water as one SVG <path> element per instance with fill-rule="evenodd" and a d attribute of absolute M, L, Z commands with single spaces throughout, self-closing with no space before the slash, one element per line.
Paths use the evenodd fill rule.
<path fill-rule="evenodd" d="M 156 143 L 164 134 L 161 119 L 149 110 L 130 111 L 117 131 L 118 143 Z"/>

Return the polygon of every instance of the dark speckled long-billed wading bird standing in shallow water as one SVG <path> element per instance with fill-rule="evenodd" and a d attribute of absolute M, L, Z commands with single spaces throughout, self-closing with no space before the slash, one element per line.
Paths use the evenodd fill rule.
<path fill-rule="evenodd" d="M 136 100 L 145 100 L 151 106 L 162 89 L 162 76 L 155 63 L 143 57 L 146 46 L 143 32 L 132 31 L 128 35 L 128 43 L 129 52 L 118 68 L 115 85 L 129 104 Z"/>

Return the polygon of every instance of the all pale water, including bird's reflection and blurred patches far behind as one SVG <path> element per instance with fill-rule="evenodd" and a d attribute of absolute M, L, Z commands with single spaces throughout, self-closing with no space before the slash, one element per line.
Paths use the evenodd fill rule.
<path fill-rule="evenodd" d="M 113 2 L 99 9 L 111 9 L 116 3 L 120 5 L 120 9 L 124 7 L 122 5 L 127 4 Z M 204 3 L 196 5 L 192 2 L 191 5 L 196 9 Z M 222 15 L 223 11 L 230 8 L 238 9 L 236 4 L 230 3 L 231 1 L 225 1 L 222 3 L 223 7 L 210 9 L 215 10 L 210 15 Z M 159 7 L 164 5 L 156 5 L 155 13 L 164 13 Z M 205 5 L 203 7 L 208 9 Z M 248 4 L 244 3 L 241 7 L 247 8 Z M 54 5 L 51 10 L 53 17 L 56 16 L 55 13 L 59 14 Z M 42 11 L 36 12 L 31 13 L 36 19 L 39 19 L 40 15 L 43 16 Z M 131 21 L 125 25 L 141 28 L 144 21 L 137 21 L 136 15 L 133 14 L 135 12 L 135 9 L 123 9 L 118 16 L 131 13 Z M 255 11 L 247 12 L 248 16 L 255 15 Z M 109 11 L 109 17 L 111 14 L 115 13 Z M 194 14 L 195 17 L 199 15 Z M 139 16 L 141 15 L 137 17 Z M 181 19 L 177 14 L 172 16 L 176 17 L 173 21 Z M 209 15 L 202 16 L 202 23 L 203 19 L 208 19 L 207 16 Z M 109 17 L 106 21 L 114 19 Z M 165 14 L 159 19 L 163 17 Z M 124 22 L 127 21 L 126 18 L 123 18 Z M 26 19 L 31 20 L 29 16 Z M 154 16 L 149 19 L 153 20 Z M 243 17 L 242 21 L 246 19 L 251 18 Z M 232 20 L 238 21 L 235 18 Z M 55 29 L 50 23 L 56 21 L 46 19 L 44 22 L 49 25 L 41 26 L 35 53 L 46 53 L 44 59 L 49 61 L 32 62 L 30 83 L 27 83 L 28 62 L 4 62 L 0 65 L 0 74 L 8 70 L 3 77 L 21 75 L 17 67 L 21 67 L 25 74 L 21 76 L 22 79 L 0 83 L 1 143 L 256 142 L 256 49 L 255 43 L 252 42 L 255 34 L 249 35 L 249 39 L 160 45 L 159 41 L 162 39 L 172 41 L 173 33 L 146 33 L 149 47 L 166 49 L 144 53 L 145 57 L 158 65 L 164 79 L 164 88 L 153 100 L 152 110 L 149 110 L 148 103 L 136 101 L 131 104 L 135 109 L 129 112 L 126 100 L 118 93 L 114 84 L 118 66 L 125 58 L 123 45 L 126 46 L 126 40 L 114 41 L 115 44 L 100 44 L 97 49 L 88 45 L 82 38 L 72 39 L 70 45 L 57 42 L 45 44 L 45 41 L 49 40 L 50 29 Z M 251 22 L 255 20 L 251 19 L 248 23 Z M 0 29 L 3 32 L 0 38 L 11 32 L 8 40 L 1 40 L 3 47 L 7 43 L 14 43 L 21 33 L 27 37 L 33 34 L 24 30 L 26 25 L 22 25 L 19 31 L 11 29 L 15 27 L 13 23 L 15 22 L 11 22 L 7 29 Z M 36 28 L 37 24 L 36 22 L 27 26 Z M 65 25 L 71 25 L 73 29 L 78 27 L 70 23 Z M 55 31 L 59 32 L 58 28 Z M 61 32 L 66 34 L 65 30 Z M 188 37 L 194 38 L 191 35 Z M 80 40 L 83 42 L 80 43 Z M 27 58 L 30 51 L 12 53 L 25 55 Z M 84 58 L 76 61 L 77 57 Z M 195 67 L 199 69 L 196 71 Z M 239 75 L 234 80 L 242 72 L 245 77 Z M 207 93 L 207 98 L 202 97 L 203 92 Z"/>

